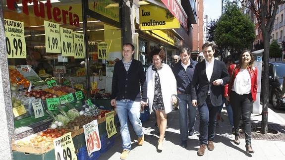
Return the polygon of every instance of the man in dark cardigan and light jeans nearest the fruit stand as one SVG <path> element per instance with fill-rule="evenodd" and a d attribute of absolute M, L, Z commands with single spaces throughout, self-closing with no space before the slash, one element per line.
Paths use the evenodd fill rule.
<path fill-rule="evenodd" d="M 141 106 L 146 106 L 147 84 L 143 65 L 133 59 L 134 46 L 123 45 L 123 59 L 114 65 L 111 105 L 116 107 L 120 122 L 123 152 L 121 160 L 127 158 L 131 149 L 131 138 L 128 119 L 138 136 L 138 146 L 144 142 L 143 128 L 140 118 Z M 140 88 L 141 87 L 141 88 Z"/>

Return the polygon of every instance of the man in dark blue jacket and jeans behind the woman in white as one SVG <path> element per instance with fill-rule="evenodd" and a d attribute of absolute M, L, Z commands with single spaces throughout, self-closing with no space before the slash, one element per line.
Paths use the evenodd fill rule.
<path fill-rule="evenodd" d="M 183 48 L 179 51 L 180 61 L 176 63 L 172 69 L 176 78 L 177 95 L 179 98 L 179 128 L 181 135 L 181 146 L 187 147 L 188 135 L 192 136 L 194 133 L 194 124 L 196 120 L 196 107 L 192 106 L 190 96 L 190 84 L 193 79 L 193 73 L 196 61 L 190 58 L 190 51 Z M 187 109 L 188 106 L 188 109 Z M 187 112 L 189 123 L 187 125 Z M 189 133 L 188 133 L 189 128 Z"/>

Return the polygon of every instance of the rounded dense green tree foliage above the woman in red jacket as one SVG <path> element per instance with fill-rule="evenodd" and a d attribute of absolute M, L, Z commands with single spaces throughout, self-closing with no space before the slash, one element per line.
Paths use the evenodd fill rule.
<path fill-rule="evenodd" d="M 251 49 L 255 39 L 254 24 L 243 15 L 238 6 L 228 2 L 224 14 L 217 22 L 214 34 L 215 43 L 233 54 Z"/>

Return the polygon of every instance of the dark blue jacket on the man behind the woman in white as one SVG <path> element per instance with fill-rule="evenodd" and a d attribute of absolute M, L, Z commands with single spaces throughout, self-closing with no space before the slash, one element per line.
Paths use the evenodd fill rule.
<path fill-rule="evenodd" d="M 179 60 L 172 69 L 176 79 L 177 91 L 180 91 L 182 94 L 190 94 L 190 84 L 193 80 L 193 74 L 197 63 L 198 62 L 190 58 L 190 65 L 187 67 L 186 72 L 181 65 L 181 60 Z"/>

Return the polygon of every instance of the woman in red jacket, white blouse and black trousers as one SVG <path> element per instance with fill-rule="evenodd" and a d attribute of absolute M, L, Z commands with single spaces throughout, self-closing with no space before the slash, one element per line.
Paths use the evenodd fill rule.
<path fill-rule="evenodd" d="M 235 129 L 234 143 L 239 144 L 240 114 L 244 126 L 246 152 L 254 153 L 251 147 L 250 114 L 257 92 L 257 68 L 253 66 L 254 57 L 250 51 L 244 51 L 239 56 L 239 64 L 231 64 L 228 68 L 229 83 L 225 87 L 225 97 L 233 111 Z"/>

